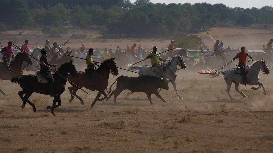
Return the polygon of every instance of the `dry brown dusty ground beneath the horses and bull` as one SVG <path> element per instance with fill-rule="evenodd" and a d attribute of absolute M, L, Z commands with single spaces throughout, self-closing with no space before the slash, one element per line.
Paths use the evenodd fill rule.
<path fill-rule="evenodd" d="M 77 99 L 69 104 L 66 90 L 55 109 L 57 117 L 45 109 L 53 98 L 33 94 L 37 112 L 28 104 L 21 109 L 19 85 L 1 80 L 9 96 L 0 95 L 0 152 L 272 152 L 271 75 L 260 74 L 268 95 L 240 85 L 248 96 L 242 98 L 233 85 L 235 101 L 228 99 L 222 76 L 209 78 L 189 70 L 179 70 L 177 77 L 184 99 L 169 84 L 161 92 L 167 102 L 153 95 L 154 105 L 144 93 L 125 99 L 123 91 L 120 104 L 111 98 L 90 110 L 97 92 L 88 91 L 87 96 L 78 91 L 85 102 L 81 105 Z"/>

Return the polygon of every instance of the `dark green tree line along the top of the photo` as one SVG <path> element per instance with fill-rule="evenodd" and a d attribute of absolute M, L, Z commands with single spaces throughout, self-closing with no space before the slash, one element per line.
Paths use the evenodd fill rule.
<path fill-rule="evenodd" d="M 224 4 L 160 4 L 150 0 L 2 0 L 0 31 L 44 27 L 62 34 L 65 26 L 99 27 L 104 36 L 162 37 L 217 26 L 273 24 L 273 8 L 230 8 Z M 58 33 L 59 32 L 59 33 Z"/>

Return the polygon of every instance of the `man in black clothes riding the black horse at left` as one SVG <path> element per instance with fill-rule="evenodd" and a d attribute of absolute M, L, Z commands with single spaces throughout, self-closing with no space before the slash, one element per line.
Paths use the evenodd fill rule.
<path fill-rule="evenodd" d="M 54 90 L 53 90 L 54 79 L 53 79 L 52 72 L 49 71 L 49 69 L 51 69 L 50 66 L 56 67 L 56 65 L 49 64 L 47 62 L 47 50 L 46 49 L 43 48 L 41 50 L 41 54 L 42 54 L 42 56 L 40 58 L 40 67 L 41 67 L 40 73 L 48 81 L 50 96 L 51 97 L 58 96 L 57 94 L 54 93 Z"/>

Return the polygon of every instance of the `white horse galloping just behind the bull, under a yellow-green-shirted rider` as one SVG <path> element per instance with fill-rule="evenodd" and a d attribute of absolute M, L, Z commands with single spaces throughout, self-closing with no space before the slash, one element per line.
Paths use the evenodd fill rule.
<path fill-rule="evenodd" d="M 186 64 L 183 61 L 183 58 L 180 55 L 176 55 L 171 57 L 169 62 L 163 67 L 163 78 L 168 80 L 168 83 L 171 82 L 172 86 L 176 92 L 177 97 L 183 99 L 177 92 L 176 87 L 176 70 L 177 66 L 180 66 L 181 69 L 186 68 Z M 129 70 L 138 70 L 138 73 L 142 73 L 145 75 L 158 75 L 158 72 L 153 71 L 151 66 L 135 66 L 129 64 Z M 179 70 L 179 69 L 178 69 Z M 160 88 L 160 91 L 162 89 Z"/>

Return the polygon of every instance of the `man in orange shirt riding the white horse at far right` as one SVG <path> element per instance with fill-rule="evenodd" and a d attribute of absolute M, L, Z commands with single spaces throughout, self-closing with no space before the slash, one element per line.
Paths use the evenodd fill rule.
<path fill-rule="evenodd" d="M 250 59 L 252 59 L 252 57 L 245 52 L 245 47 L 241 48 L 241 52 L 237 53 L 237 55 L 233 58 L 233 60 L 235 60 L 236 58 L 239 58 L 239 64 L 238 66 L 240 67 L 240 70 L 242 72 L 242 84 L 246 85 L 246 71 L 247 71 L 247 65 L 246 63 L 246 58 L 249 57 Z"/>

